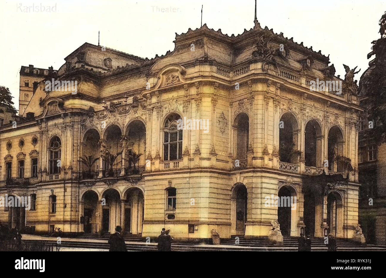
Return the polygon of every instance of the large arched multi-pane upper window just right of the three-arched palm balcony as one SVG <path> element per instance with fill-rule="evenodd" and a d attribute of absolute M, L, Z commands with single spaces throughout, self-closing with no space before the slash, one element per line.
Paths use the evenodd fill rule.
<path fill-rule="evenodd" d="M 170 115 L 164 125 L 164 161 L 182 158 L 182 129 L 177 129 L 177 114 Z"/>

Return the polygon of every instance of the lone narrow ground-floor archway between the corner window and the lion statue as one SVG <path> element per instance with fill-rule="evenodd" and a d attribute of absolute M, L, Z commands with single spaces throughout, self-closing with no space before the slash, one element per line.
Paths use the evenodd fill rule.
<path fill-rule="evenodd" d="M 247 187 L 244 184 L 235 184 L 232 190 L 232 233 L 239 236 L 245 234 L 247 221 Z"/>

